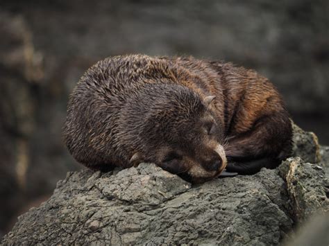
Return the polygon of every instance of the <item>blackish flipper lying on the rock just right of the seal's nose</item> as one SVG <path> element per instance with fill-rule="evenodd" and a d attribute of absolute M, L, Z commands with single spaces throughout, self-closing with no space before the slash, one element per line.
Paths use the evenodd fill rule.
<path fill-rule="evenodd" d="M 253 161 L 228 162 L 226 171 L 229 173 L 239 173 L 240 175 L 253 175 L 261 168 L 276 168 L 280 164 L 278 159 L 262 158 Z"/>

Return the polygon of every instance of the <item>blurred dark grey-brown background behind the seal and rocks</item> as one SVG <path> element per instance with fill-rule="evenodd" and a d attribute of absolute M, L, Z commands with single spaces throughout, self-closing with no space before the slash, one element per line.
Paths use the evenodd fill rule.
<path fill-rule="evenodd" d="M 0 1 L 0 237 L 81 168 L 67 98 L 109 55 L 194 55 L 255 69 L 329 144 L 329 5 L 306 1 Z"/>

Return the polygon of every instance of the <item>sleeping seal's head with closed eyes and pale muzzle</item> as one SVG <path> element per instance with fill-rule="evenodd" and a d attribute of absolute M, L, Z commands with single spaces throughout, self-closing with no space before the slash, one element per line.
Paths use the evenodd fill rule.
<path fill-rule="evenodd" d="M 141 148 L 130 163 L 153 162 L 194 183 L 218 177 L 226 155 L 221 125 L 210 109 L 214 96 L 201 98 L 179 85 L 165 87 L 156 91 L 147 109 L 139 132 Z"/>

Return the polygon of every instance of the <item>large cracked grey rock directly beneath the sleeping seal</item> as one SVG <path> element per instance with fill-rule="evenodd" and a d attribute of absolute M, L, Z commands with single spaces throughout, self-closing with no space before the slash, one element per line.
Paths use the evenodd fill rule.
<path fill-rule="evenodd" d="M 19 217 L 2 243 L 278 245 L 292 229 L 286 203 L 276 170 L 196 186 L 154 164 L 82 170 Z"/>

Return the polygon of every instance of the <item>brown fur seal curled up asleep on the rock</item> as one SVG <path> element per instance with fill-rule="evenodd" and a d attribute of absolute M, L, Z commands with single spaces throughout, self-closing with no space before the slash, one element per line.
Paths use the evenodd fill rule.
<path fill-rule="evenodd" d="M 192 182 L 224 168 L 275 168 L 292 150 L 289 114 L 267 78 L 230 63 L 147 55 L 88 69 L 69 98 L 64 136 L 92 169 L 154 162 Z"/>

